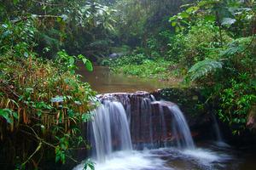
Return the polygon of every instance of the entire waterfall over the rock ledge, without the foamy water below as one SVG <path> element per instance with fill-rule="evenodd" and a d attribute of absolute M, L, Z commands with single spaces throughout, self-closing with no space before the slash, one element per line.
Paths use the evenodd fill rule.
<path fill-rule="evenodd" d="M 105 94 L 99 98 L 102 105 L 90 123 L 96 161 L 106 161 L 118 150 L 131 151 L 132 144 L 139 150 L 173 144 L 177 148 L 195 148 L 188 123 L 172 102 L 156 101 L 144 92 Z"/>

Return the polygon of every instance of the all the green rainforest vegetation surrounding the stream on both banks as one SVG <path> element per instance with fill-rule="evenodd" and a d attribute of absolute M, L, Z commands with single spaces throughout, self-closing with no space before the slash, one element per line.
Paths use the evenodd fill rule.
<path fill-rule="evenodd" d="M 83 122 L 98 102 L 78 63 L 182 79 L 233 135 L 253 133 L 255 34 L 254 0 L 2 0 L 0 168 L 61 167 L 90 150 Z"/>

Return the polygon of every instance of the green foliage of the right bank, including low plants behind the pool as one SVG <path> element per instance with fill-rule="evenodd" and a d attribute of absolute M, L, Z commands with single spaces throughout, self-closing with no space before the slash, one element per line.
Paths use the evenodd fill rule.
<path fill-rule="evenodd" d="M 138 77 L 172 80 L 173 76 L 183 75 L 184 82 L 193 82 L 188 86 L 205 89 L 207 104 L 217 103 L 218 117 L 230 125 L 233 133 L 239 134 L 246 129 L 247 118 L 251 116 L 248 113 L 256 102 L 253 66 L 256 65 L 256 3 L 250 0 L 185 3 L 174 10 L 175 15 L 169 14 L 172 28 L 153 23 L 154 31 L 148 29 L 151 35 L 143 34 L 145 40 L 137 39 L 139 47 L 130 55 L 103 63 L 115 72 Z M 147 20 L 152 20 L 154 14 L 143 15 L 143 11 L 146 13 L 147 9 L 140 10 L 138 15 L 145 18 L 137 17 L 136 26 L 143 25 L 143 30 L 147 30 Z M 158 20 L 167 23 L 165 16 L 159 16 Z M 141 31 L 128 28 L 141 37 Z"/>

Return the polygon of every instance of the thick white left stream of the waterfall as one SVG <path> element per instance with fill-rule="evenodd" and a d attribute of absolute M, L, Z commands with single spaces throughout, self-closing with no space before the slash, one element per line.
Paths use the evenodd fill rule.
<path fill-rule="evenodd" d="M 105 100 L 96 109 L 90 126 L 97 161 L 105 161 L 115 150 L 132 150 L 130 128 L 121 103 Z"/>

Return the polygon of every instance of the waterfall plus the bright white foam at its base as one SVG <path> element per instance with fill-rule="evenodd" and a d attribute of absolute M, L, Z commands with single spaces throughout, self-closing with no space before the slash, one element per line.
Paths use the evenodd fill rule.
<path fill-rule="evenodd" d="M 161 156 L 172 151 L 203 163 L 218 160 L 195 148 L 185 116 L 172 102 L 143 94 L 108 94 L 100 99 L 102 105 L 94 113 L 89 132 L 96 170 L 171 170 Z M 139 150 L 132 150 L 131 144 Z M 177 146 L 178 151 L 168 146 Z M 83 163 L 74 167 L 82 169 Z"/>

